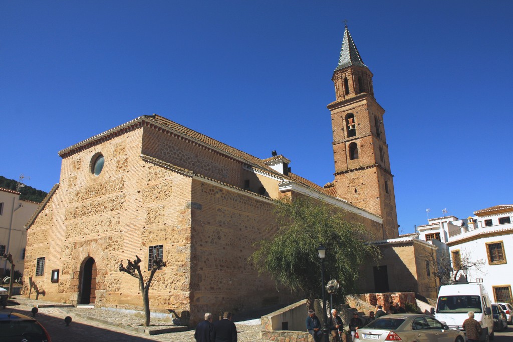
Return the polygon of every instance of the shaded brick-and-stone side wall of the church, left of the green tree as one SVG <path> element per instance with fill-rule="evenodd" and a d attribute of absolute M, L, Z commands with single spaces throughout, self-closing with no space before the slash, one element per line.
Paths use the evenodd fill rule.
<path fill-rule="evenodd" d="M 205 312 L 237 314 L 290 300 L 290 291 L 277 292 L 270 277 L 259 276 L 248 262 L 253 244 L 277 231 L 273 204 L 198 180 L 192 193 L 192 321 Z"/>

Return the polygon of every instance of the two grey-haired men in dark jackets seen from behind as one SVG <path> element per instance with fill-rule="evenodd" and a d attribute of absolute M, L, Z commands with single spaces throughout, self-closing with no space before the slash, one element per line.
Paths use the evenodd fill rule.
<path fill-rule="evenodd" d="M 196 327 L 194 338 L 196 342 L 237 342 L 237 328 L 232 322 L 233 314 L 225 312 L 223 319 L 212 323 L 210 312 L 205 314 L 205 320 Z"/>

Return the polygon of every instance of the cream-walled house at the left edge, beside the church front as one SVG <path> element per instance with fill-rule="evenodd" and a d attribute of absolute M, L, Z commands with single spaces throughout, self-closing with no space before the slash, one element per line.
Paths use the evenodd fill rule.
<path fill-rule="evenodd" d="M 27 230 L 25 225 L 39 203 L 19 199 L 19 192 L 0 188 L 0 255 L 11 253 L 14 270 L 23 273 Z M 0 258 L 0 276 L 11 264 Z"/>

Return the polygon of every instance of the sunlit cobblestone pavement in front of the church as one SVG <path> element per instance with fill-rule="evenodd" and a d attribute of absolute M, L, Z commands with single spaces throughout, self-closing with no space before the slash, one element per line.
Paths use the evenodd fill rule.
<path fill-rule="evenodd" d="M 31 309 L 36 305 L 55 303 L 43 300 L 27 299 L 15 296 L 13 300 L 18 305 L 9 305 L 1 311 L 14 310 L 32 316 Z M 70 316 L 72 323 L 66 327 L 64 317 Z M 194 330 L 171 332 L 159 335 L 145 335 L 128 329 L 140 328 L 144 318 L 130 314 L 119 313 L 104 309 L 79 309 L 79 308 L 38 308 L 35 317 L 46 328 L 52 338 L 52 342 L 190 342 L 194 341 Z M 108 321 L 109 324 L 98 322 Z M 118 324 L 115 327 L 111 324 Z M 159 319 L 151 319 L 153 329 L 171 327 L 169 323 Z M 260 338 L 260 319 L 235 322 L 240 342 L 263 342 Z M 124 327 L 124 328 L 123 328 Z"/>

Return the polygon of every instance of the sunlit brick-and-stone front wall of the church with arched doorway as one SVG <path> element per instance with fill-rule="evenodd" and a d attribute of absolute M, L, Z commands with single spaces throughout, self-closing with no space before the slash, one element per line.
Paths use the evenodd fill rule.
<path fill-rule="evenodd" d="M 163 245 L 168 266 L 157 271 L 150 289 L 152 311 L 188 316 L 190 279 L 191 179 L 142 161 L 142 129 L 63 158 L 60 188 L 28 230 L 24 293 L 29 279 L 48 300 L 77 303 L 85 260 L 97 268 L 97 306 L 140 309 L 137 279 L 117 269 L 121 260 L 142 259 L 148 274 L 148 248 Z M 105 166 L 98 176 L 91 163 L 98 153 Z M 35 276 L 38 257 L 45 271 Z M 51 283 L 51 270 L 60 270 Z"/>

